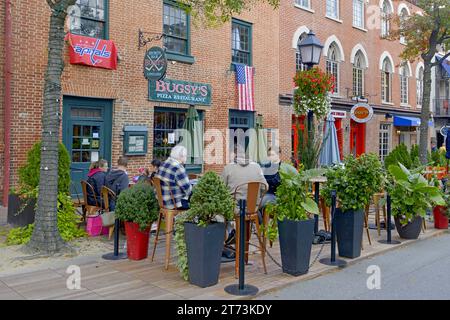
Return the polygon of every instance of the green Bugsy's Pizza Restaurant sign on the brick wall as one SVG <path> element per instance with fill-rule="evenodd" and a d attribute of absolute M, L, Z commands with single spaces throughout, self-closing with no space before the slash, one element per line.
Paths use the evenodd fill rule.
<path fill-rule="evenodd" d="M 193 105 L 211 105 L 211 85 L 164 79 L 149 81 L 149 100 Z"/>

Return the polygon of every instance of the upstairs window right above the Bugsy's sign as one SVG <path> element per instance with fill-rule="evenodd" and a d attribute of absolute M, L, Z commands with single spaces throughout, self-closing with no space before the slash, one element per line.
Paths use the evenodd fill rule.
<path fill-rule="evenodd" d="M 189 55 L 189 16 L 175 2 L 164 2 L 164 46 L 168 52 Z"/>

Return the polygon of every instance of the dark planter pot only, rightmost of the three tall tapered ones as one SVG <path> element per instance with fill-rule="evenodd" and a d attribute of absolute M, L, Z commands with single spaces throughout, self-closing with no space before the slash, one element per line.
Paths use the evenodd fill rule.
<path fill-rule="evenodd" d="M 338 208 L 335 219 L 339 256 L 351 259 L 359 257 L 364 229 L 364 210 L 342 212 Z"/>

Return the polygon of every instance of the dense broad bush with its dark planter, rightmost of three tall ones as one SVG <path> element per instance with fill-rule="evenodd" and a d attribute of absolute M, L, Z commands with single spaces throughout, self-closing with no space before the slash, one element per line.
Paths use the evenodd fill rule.
<path fill-rule="evenodd" d="M 383 188 L 384 171 L 378 156 L 363 154 L 358 158 L 347 156 L 343 166 L 330 168 L 327 185 L 322 189 L 330 201 L 331 190 L 336 190 L 338 207 L 335 211 L 336 235 L 341 257 L 361 255 L 364 229 L 364 208 L 376 192 Z"/>

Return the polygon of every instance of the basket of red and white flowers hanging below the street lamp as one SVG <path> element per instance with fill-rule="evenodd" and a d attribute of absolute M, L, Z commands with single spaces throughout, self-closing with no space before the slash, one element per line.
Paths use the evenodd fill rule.
<path fill-rule="evenodd" d="M 298 71 L 294 77 L 294 110 L 298 115 L 312 111 L 318 118 L 324 118 L 331 109 L 331 92 L 335 80 L 319 68 Z"/>

